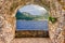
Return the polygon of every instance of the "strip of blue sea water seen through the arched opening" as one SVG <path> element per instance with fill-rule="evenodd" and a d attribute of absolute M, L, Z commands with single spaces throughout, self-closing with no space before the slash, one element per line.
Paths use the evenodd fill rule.
<path fill-rule="evenodd" d="M 16 30 L 48 30 L 48 20 L 16 20 Z"/>

